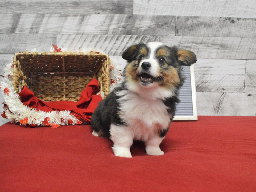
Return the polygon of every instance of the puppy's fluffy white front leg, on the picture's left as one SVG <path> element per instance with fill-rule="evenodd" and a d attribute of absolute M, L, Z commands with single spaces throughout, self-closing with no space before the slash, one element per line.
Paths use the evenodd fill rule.
<path fill-rule="evenodd" d="M 110 139 L 114 145 L 112 147 L 115 156 L 119 157 L 132 157 L 130 147 L 133 143 L 131 131 L 124 125 L 110 126 Z"/>

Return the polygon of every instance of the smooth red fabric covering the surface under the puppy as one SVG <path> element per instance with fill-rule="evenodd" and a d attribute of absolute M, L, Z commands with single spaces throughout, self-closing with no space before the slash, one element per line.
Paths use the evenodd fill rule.
<path fill-rule="evenodd" d="M 163 156 L 113 155 L 88 125 L 0 127 L 0 191 L 256 191 L 256 117 L 173 122 Z"/>

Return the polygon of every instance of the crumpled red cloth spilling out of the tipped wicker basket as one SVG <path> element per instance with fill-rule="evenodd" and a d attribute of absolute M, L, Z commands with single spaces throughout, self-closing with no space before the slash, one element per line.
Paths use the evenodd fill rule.
<path fill-rule="evenodd" d="M 41 110 L 49 112 L 52 110 L 71 111 L 72 115 L 79 117 L 84 121 L 91 121 L 92 113 L 98 106 L 98 103 L 102 100 L 100 95 L 96 95 L 99 91 L 98 81 L 92 79 L 86 86 L 86 88 L 81 92 L 80 99 L 78 102 L 73 101 L 50 101 L 45 102 L 38 99 L 34 93 L 24 86 L 20 92 L 21 102 L 31 108 L 36 108 L 36 110 Z"/>

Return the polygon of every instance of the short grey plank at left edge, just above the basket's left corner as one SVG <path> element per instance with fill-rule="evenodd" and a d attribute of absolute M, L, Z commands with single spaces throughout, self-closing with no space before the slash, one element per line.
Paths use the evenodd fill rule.
<path fill-rule="evenodd" d="M 56 35 L 51 34 L 0 34 L 0 54 L 14 54 L 32 50 L 48 51 L 56 44 Z"/>

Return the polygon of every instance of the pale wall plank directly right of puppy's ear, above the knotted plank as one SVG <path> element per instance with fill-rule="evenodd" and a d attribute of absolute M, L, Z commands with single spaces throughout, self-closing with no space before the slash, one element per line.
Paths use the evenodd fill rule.
<path fill-rule="evenodd" d="M 195 63 L 197 92 L 244 92 L 245 60 L 198 59 Z"/>

